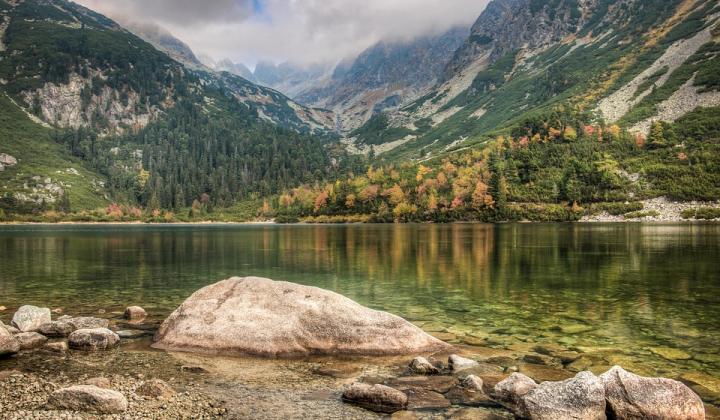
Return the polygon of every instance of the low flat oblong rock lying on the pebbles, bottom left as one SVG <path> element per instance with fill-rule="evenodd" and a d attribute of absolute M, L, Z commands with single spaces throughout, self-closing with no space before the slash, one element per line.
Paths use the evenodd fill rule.
<path fill-rule="evenodd" d="M 127 410 L 128 402 L 123 394 L 93 385 L 76 385 L 53 392 L 48 408 L 98 414 L 119 414 Z"/>

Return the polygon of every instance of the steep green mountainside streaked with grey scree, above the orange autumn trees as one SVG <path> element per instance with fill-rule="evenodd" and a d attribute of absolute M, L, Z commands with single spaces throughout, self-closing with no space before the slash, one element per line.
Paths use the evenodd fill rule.
<path fill-rule="evenodd" d="M 647 132 L 720 104 L 719 12 L 703 0 L 494 0 L 439 82 L 368 122 L 354 147 L 426 159 L 557 104 Z"/>

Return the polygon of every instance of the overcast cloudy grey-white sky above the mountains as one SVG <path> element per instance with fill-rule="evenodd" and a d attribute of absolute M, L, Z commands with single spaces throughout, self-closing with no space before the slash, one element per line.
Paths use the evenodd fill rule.
<path fill-rule="evenodd" d="M 118 20 L 153 22 L 198 55 L 314 63 L 379 40 L 471 25 L 488 0 L 75 0 Z"/>

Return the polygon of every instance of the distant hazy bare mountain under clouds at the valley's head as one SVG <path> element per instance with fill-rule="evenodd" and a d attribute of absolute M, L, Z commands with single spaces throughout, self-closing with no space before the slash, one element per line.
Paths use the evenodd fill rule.
<path fill-rule="evenodd" d="M 355 59 L 341 62 L 329 77 L 316 80 L 293 97 L 333 110 L 339 127 L 351 131 L 373 115 L 416 99 L 432 87 L 467 33 L 467 28 L 452 28 L 409 41 L 379 42 Z"/>

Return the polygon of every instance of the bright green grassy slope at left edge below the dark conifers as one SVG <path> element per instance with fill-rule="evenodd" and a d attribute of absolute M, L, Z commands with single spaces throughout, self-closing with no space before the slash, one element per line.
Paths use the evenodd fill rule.
<path fill-rule="evenodd" d="M 0 153 L 18 159 L 18 164 L 0 172 L 0 197 L 6 193 L 26 192 L 25 184 L 37 184 L 32 178 L 51 178 L 53 183 L 68 185 L 73 210 L 93 209 L 107 205 L 105 191 L 93 181 L 105 179 L 80 159 L 72 157 L 64 146 L 52 140 L 52 130 L 44 128 L 25 115 L 5 94 L 0 95 Z M 79 175 L 68 172 L 75 169 Z M 51 206 L 52 207 L 52 206 Z"/>

